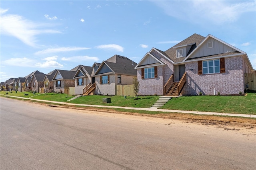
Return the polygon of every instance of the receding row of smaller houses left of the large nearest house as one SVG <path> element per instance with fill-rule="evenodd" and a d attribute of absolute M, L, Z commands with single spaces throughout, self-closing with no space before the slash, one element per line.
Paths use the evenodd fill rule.
<path fill-rule="evenodd" d="M 137 76 L 137 63 L 127 57 L 114 55 L 102 63 L 92 66 L 78 65 L 71 70 L 55 69 L 48 74 L 38 70 L 25 77 L 10 78 L 1 82 L 1 90 L 57 92 L 72 94 L 116 95 L 117 85 L 131 85 Z"/>

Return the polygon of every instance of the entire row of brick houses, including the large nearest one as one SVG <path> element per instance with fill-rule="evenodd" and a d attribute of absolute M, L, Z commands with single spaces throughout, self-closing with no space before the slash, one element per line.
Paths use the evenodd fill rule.
<path fill-rule="evenodd" d="M 34 71 L 1 82 L 1 89 L 66 93 L 73 87 L 73 94 L 116 95 L 117 86 L 131 85 L 134 77 L 139 95 L 232 95 L 256 90 L 256 70 L 247 54 L 210 34 L 193 34 L 166 51 L 153 47 L 138 64 L 114 55 L 92 66 L 48 74 Z"/>

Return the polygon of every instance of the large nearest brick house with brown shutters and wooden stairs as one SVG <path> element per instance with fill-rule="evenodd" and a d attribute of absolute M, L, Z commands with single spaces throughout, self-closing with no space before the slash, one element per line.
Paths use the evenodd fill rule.
<path fill-rule="evenodd" d="M 193 34 L 166 51 L 152 48 L 135 67 L 139 95 L 228 95 L 244 92 L 254 72 L 247 54 L 212 36 Z"/>

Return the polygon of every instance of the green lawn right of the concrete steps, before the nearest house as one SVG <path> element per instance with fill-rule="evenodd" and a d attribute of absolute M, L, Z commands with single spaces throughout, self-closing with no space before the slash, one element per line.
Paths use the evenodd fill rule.
<path fill-rule="evenodd" d="M 256 93 L 246 96 L 183 96 L 172 98 L 161 109 L 256 114 Z"/>

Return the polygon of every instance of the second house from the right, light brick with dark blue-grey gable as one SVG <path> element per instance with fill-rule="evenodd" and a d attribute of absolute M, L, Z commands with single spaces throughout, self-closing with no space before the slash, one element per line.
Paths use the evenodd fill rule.
<path fill-rule="evenodd" d="M 93 65 L 93 77 L 95 78 L 92 82 L 93 94 L 102 95 L 116 95 L 117 85 L 130 85 L 133 82 L 133 78 L 137 76 L 136 70 L 134 69 L 136 63 L 127 57 L 120 55 L 114 55 L 106 61 L 103 61 L 98 67 L 97 64 Z M 86 92 L 87 93 L 87 92 Z M 88 94 L 88 93 L 87 93 Z"/>

